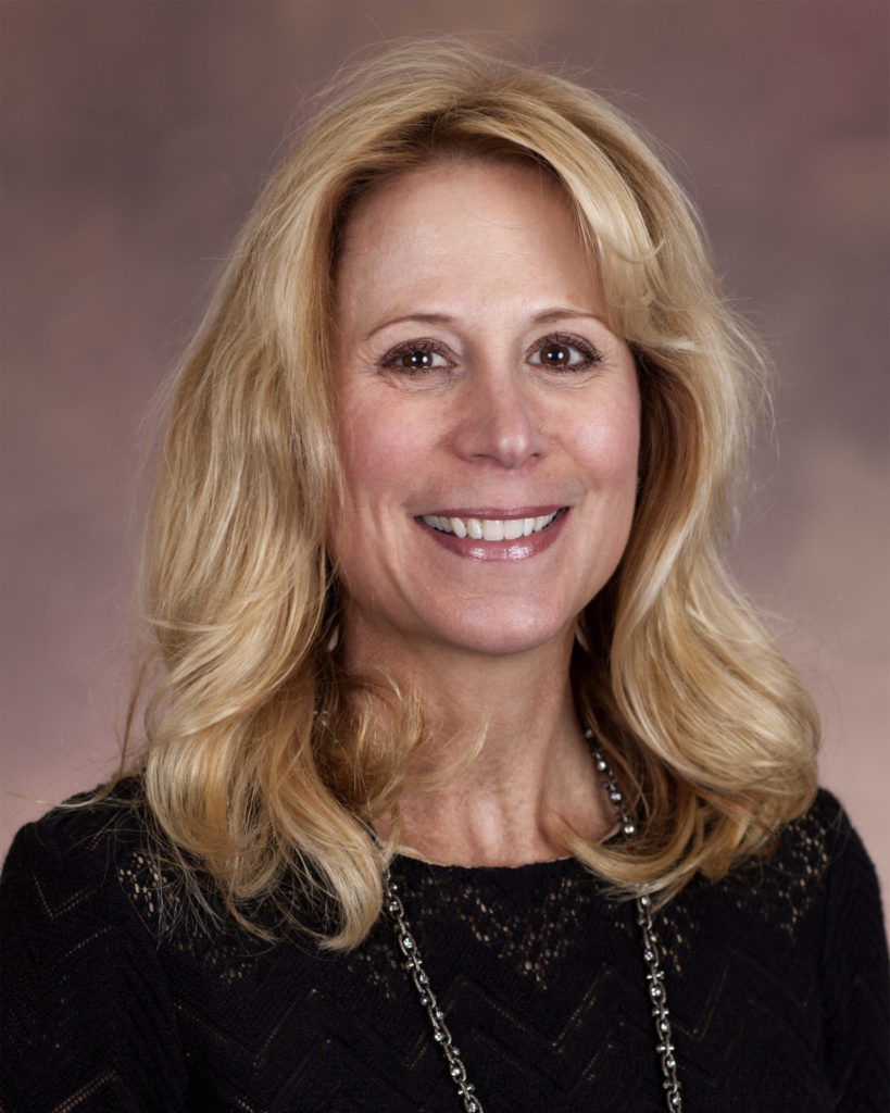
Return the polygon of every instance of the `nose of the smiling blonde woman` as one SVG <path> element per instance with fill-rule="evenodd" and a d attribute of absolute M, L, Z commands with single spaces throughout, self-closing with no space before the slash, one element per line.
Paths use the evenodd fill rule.
<path fill-rule="evenodd" d="M 454 434 L 462 459 L 515 469 L 541 454 L 541 415 L 517 374 L 479 367 L 467 387 Z"/>

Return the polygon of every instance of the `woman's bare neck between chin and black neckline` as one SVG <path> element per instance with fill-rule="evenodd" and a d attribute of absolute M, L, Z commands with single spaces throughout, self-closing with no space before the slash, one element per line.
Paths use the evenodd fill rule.
<path fill-rule="evenodd" d="M 566 827 L 601 838 L 614 826 L 575 715 L 570 656 L 568 639 L 511 657 L 415 646 L 409 663 L 383 667 L 424 707 L 427 737 L 408 784 L 437 786 L 403 795 L 399 849 L 445 865 L 517 866 L 564 857 Z M 482 736 L 482 749 L 462 766 Z M 377 828 L 388 837 L 393 817 Z"/>

